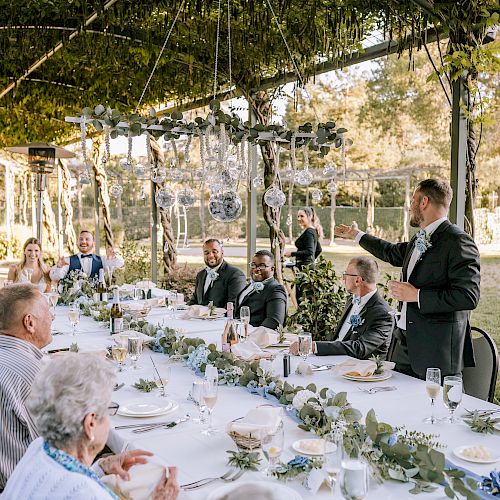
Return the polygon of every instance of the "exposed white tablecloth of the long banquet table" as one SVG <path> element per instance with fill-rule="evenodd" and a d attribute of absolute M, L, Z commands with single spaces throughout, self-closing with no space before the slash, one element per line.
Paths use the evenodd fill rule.
<path fill-rule="evenodd" d="M 180 319 L 181 312 L 175 313 L 175 318 L 165 309 L 153 309 L 149 316 L 150 323 L 163 323 L 176 329 L 181 329 L 186 336 L 201 337 L 207 343 L 220 344 L 220 335 L 223 329 L 224 320 L 203 321 L 203 320 L 183 320 Z M 47 350 L 69 347 L 75 342 L 75 337 L 70 334 L 71 326 L 67 320 L 67 308 L 58 306 L 56 308 L 56 319 L 53 323 L 53 330 L 59 333 L 54 335 L 53 342 L 46 348 Z M 108 330 L 88 317 L 83 317 L 77 329 L 76 342 L 82 351 L 92 351 L 103 349 L 111 345 Z M 113 400 L 124 403 L 127 400 L 158 400 L 157 391 L 153 393 L 141 393 L 132 387 L 139 378 L 154 378 L 153 366 L 149 359 L 151 355 L 161 370 L 169 363 L 168 357 L 161 353 L 154 353 L 146 349 L 139 361 L 141 368 L 133 370 L 130 367 L 123 372 L 117 373 L 117 382 L 124 382 L 125 386 L 113 393 Z M 340 362 L 346 359 L 345 356 L 322 357 L 321 363 Z M 317 359 L 317 361 L 319 361 Z M 397 390 L 392 392 L 379 392 L 367 394 L 360 391 L 360 388 L 370 387 L 371 384 L 356 383 L 334 376 L 331 372 L 315 372 L 310 376 L 295 375 L 294 371 L 298 358 L 292 357 L 292 375 L 288 377 L 288 382 L 294 385 L 306 386 L 314 382 L 318 389 L 330 387 L 336 392 L 346 391 L 348 400 L 353 407 L 358 408 L 366 414 L 371 408 L 375 409 L 379 421 L 385 421 L 395 426 L 405 426 L 408 430 L 417 430 L 425 433 L 439 435 L 439 441 L 446 445 L 443 450 L 446 457 L 456 465 L 467 468 L 477 474 L 487 475 L 491 470 L 498 468 L 497 464 L 480 465 L 465 462 L 452 453 L 456 446 L 460 445 L 487 445 L 493 450 L 500 450 L 500 436 L 483 435 L 472 432 L 464 423 L 455 425 L 439 423 L 435 425 L 424 424 L 423 418 L 430 414 L 430 403 L 426 395 L 425 384 L 420 380 L 394 373 L 392 378 L 385 381 L 383 385 L 394 385 Z M 187 399 L 192 382 L 197 379 L 196 375 L 182 363 L 169 363 L 172 366 L 171 380 L 167 386 L 169 397 L 178 402 L 179 408 L 174 413 L 154 418 L 129 418 L 123 416 L 111 417 L 111 427 L 108 439 L 108 446 L 116 453 L 124 449 L 145 449 L 155 454 L 155 460 L 165 465 L 176 465 L 179 468 L 180 484 L 195 481 L 205 477 L 215 477 L 222 475 L 228 470 L 227 450 L 236 449 L 233 441 L 225 432 L 226 425 L 239 417 L 244 416 L 250 409 L 270 401 L 262 397 L 251 394 L 242 387 L 219 387 L 218 401 L 213 412 L 213 424 L 220 432 L 205 436 L 201 434 L 200 424 L 188 421 L 172 429 L 158 429 L 145 434 L 133 434 L 128 430 L 115 430 L 118 425 L 130 423 L 171 421 L 190 414 L 197 416 L 198 410 L 192 402 Z M 277 356 L 273 367 L 276 374 L 282 374 L 281 357 Z M 379 385 L 379 384 L 377 384 Z M 461 410 L 467 409 L 487 409 L 498 406 L 485 401 L 472 398 L 464 394 Z M 444 417 L 448 410 L 438 401 L 436 404 L 436 416 Z M 298 439 L 310 437 L 305 431 L 297 427 L 297 422 L 288 417 L 285 412 L 285 448 L 281 455 L 282 460 L 289 460 L 296 454 L 291 445 Z M 263 458 L 263 463 L 265 459 Z M 241 480 L 270 481 L 260 472 L 246 472 Z M 202 499 L 206 498 L 210 491 L 221 486 L 222 483 L 213 483 L 204 488 L 184 493 L 182 498 Z M 324 484 L 316 495 L 312 495 L 298 481 L 290 481 L 287 486 L 298 491 L 303 498 L 331 498 L 329 488 Z M 415 498 L 408 490 L 409 484 L 396 481 L 386 481 L 379 485 L 374 481 L 370 483 L 370 491 L 367 499 L 402 499 Z M 439 488 L 433 493 L 422 494 L 425 498 L 447 498 L 443 488 Z"/>

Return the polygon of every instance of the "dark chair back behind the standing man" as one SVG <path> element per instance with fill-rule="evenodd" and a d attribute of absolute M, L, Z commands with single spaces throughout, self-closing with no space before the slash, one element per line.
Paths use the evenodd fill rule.
<path fill-rule="evenodd" d="M 462 372 L 464 392 L 493 402 L 498 375 L 497 347 L 491 336 L 481 328 L 473 326 L 471 335 L 476 366 L 464 368 Z"/>

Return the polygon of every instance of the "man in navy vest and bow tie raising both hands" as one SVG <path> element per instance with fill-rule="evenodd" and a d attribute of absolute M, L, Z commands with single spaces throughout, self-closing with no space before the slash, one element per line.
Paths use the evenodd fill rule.
<path fill-rule="evenodd" d="M 106 257 L 101 257 L 94 250 L 94 235 L 90 231 L 82 231 L 78 237 L 78 250 L 76 255 L 69 258 L 61 257 L 50 270 L 50 278 L 53 281 L 63 279 L 69 271 L 78 269 L 83 271 L 89 278 L 97 279 L 99 269 L 111 267 L 117 269 L 123 267 L 123 258 L 117 255 L 113 248 L 106 250 Z"/>

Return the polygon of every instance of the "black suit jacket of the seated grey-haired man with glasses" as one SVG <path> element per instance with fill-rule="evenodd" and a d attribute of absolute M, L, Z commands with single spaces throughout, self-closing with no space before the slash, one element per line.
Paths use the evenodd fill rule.
<path fill-rule="evenodd" d="M 376 292 L 361 310 L 363 324 L 351 327 L 347 335 L 338 340 L 342 325 L 348 319 L 352 308 L 352 299 L 346 304 L 342 317 L 335 329 L 332 341 L 316 342 L 317 354 L 347 354 L 353 358 L 368 359 L 370 356 L 380 356 L 385 359 L 391 343 L 394 320 L 389 314 L 391 308 Z"/>

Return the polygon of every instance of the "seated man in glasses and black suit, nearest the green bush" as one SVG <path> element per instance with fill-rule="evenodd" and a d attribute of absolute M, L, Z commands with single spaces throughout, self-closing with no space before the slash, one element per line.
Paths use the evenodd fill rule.
<path fill-rule="evenodd" d="M 287 295 L 274 279 L 274 255 L 269 250 L 256 252 L 250 264 L 250 283 L 238 295 L 236 317 L 240 308 L 250 308 L 250 324 L 276 330 L 285 323 Z"/>

